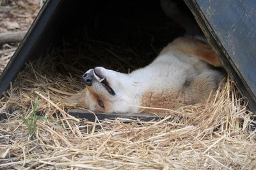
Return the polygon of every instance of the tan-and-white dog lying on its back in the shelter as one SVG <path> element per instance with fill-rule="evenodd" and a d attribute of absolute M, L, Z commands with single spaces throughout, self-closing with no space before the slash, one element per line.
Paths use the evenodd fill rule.
<path fill-rule="evenodd" d="M 130 74 L 95 67 L 83 75 L 86 88 L 68 99 L 100 112 L 163 113 L 134 106 L 177 109 L 202 103 L 224 75 L 211 46 L 193 38 L 177 38 L 148 66 Z"/>

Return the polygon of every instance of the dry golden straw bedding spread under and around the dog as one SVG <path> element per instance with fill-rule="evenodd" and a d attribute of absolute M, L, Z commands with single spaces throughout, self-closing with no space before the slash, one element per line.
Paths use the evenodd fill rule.
<path fill-rule="evenodd" d="M 68 116 L 67 109 L 77 106 L 63 100 L 84 87 L 81 74 L 87 67 L 115 57 L 118 61 L 109 63 L 127 73 L 132 69 L 130 65 L 135 67 L 132 53 L 139 55 L 132 49 L 108 43 L 90 41 L 92 44 L 97 50 L 92 46 L 80 46 L 80 51 L 65 46 L 68 59 L 61 55 L 63 51 L 52 50 L 49 57 L 29 63 L 4 94 L 0 112 L 7 119 L 0 124 L 1 169 L 256 167 L 254 116 L 232 80 L 206 104 L 170 111 L 159 121 L 127 123 L 127 119 L 119 118 L 88 122 Z M 74 53 L 83 50 L 85 59 Z M 143 58 L 135 64 L 142 64 L 140 61 Z M 39 99 L 36 111 L 45 118 L 38 117 L 35 134 L 31 135 L 22 117 L 30 117 L 36 96 Z"/>

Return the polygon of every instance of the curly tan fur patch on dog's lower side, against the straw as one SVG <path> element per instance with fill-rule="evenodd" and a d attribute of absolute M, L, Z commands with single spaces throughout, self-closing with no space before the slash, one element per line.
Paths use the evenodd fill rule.
<path fill-rule="evenodd" d="M 204 103 L 209 97 L 212 87 L 212 80 L 198 78 L 191 80 L 191 84 L 183 85 L 180 90 L 164 90 L 163 92 L 145 92 L 141 99 L 141 106 L 150 108 L 165 108 L 175 110 L 181 106 L 195 103 Z M 146 109 L 143 113 L 166 113 L 163 110 Z"/>

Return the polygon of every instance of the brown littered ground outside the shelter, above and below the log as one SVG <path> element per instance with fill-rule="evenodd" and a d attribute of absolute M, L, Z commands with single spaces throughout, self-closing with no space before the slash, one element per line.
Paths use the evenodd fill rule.
<path fill-rule="evenodd" d="M 40 0 L 0 0 L 0 34 L 28 30 L 39 10 Z M 0 74 L 18 46 L 0 45 Z"/>

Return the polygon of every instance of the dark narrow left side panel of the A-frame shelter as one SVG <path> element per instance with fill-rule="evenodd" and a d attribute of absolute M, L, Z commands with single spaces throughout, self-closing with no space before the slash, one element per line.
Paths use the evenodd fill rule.
<path fill-rule="evenodd" d="M 47 29 L 47 25 L 49 25 L 49 22 L 47 21 L 50 20 L 53 13 L 56 12 L 60 2 L 61 0 L 47 1 L 44 8 L 40 10 L 40 13 L 37 15 L 35 21 L 31 25 L 22 43 L 20 43 L 18 49 L 13 54 L 12 59 L 1 74 L 0 97 L 2 96 L 4 90 L 10 86 L 10 82 L 15 79 L 19 71 L 25 66 L 28 59 L 31 59 L 32 57 L 38 58 L 38 55 L 43 53 L 42 50 L 47 50 L 46 46 L 49 45 L 49 41 L 47 41 L 47 39 L 44 39 L 45 43 L 41 43 L 39 48 L 35 49 L 35 47 L 38 45 L 38 39 L 42 37 L 51 37 L 45 36 L 44 34 L 45 29 Z"/>

